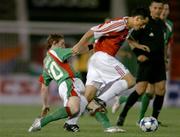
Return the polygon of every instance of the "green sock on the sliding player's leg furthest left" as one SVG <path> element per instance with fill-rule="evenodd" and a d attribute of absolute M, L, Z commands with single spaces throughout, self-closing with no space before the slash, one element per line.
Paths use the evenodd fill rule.
<path fill-rule="evenodd" d="M 52 122 L 58 119 L 67 118 L 67 117 L 68 117 L 68 113 L 66 112 L 66 108 L 65 107 L 59 108 L 55 112 L 41 119 L 41 127 L 44 127 L 49 122 Z"/>

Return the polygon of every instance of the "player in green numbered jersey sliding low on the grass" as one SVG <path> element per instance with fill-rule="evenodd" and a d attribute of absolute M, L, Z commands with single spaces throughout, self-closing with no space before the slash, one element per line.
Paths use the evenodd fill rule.
<path fill-rule="evenodd" d="M 44 58 L 44 69 L 40 77 L 41 97 L 43 107 L 41 118 L 35 119 L 29 132 L 40 130 L 42 127 L 52 121 L 64 118 L 79 117 L 84 111 L 87 100 L 80 95 L 84 91 L 84 84 L 78 78 L 79 73 L 68 63 L 68 59 L 73 55 L 72 48 L 65 48 L 65 42 L 62 35 L 52 34 L 48 38 L 48 51 Z M 56 109 L 55 112 L 47 115 L 48 105 L 48 85 L 54 80 L 58 84 L 59 96 L 64 101 L 62 107 Z M 78 127 L 74 126 L 78 131 Z M 73 132 L 76 132 L 73 131 Z"/>

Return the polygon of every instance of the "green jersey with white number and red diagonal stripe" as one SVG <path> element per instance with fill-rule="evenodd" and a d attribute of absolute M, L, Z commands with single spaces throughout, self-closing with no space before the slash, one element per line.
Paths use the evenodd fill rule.
<path fill-rule="evenodd" d="M 44 58 L 44 69 L 42 73 L 43 83 L 48 86 L 51 80 L 55 80 L 59 85 L 61 82 L 80 77 L 80 73 L 75 72 L 67 59 L 72 56 L 71 48 L 53 48 L 47 52 Z"/>

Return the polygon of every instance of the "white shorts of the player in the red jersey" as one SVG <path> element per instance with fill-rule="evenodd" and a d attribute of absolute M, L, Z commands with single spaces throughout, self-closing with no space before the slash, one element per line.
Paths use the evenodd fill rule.
<path fill-rule="evenodd" d="M 100 89 L 109 82 L 122 79 L 128 73 L 129 70 L 115 57 L 99 51 L 89 59 L 86 85 Z"/>

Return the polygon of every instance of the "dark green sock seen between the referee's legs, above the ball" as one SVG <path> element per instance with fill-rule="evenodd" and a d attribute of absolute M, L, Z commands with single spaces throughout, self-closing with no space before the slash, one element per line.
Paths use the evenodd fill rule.
<path fill-rule="evenodd" d="M 139 116 L 139 122 L 144 117 L 147 108 L 149 106 L 149 102 L 151 100 L 151 95 L 148 93 L 145 93 L 141 98 L 141 109 L 140 109 L 140 116 Z"/>

